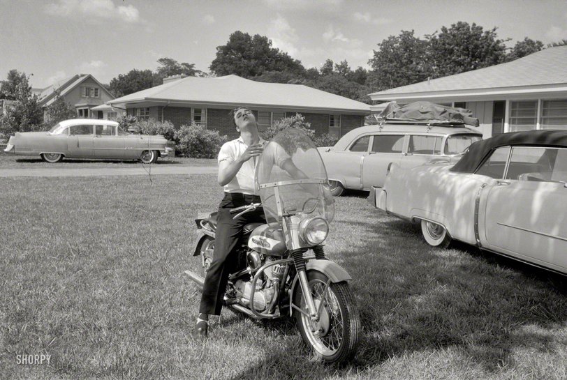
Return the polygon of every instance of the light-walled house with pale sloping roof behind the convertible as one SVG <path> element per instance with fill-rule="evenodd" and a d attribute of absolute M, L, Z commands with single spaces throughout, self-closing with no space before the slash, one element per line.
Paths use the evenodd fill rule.
<path fill-rule="evenodd" d="M 484 137 L 531 129 L 567 130 L 567 46 L 369 96 L 376 102 L 428 100 L 471 109 Z"/>

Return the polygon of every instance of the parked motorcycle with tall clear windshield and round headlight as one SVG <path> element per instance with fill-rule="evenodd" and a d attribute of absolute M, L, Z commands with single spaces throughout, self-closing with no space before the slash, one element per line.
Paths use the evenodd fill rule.
<path fill-rule="evenodd" d="M 293 175 L 286 171 L 289 161 L 281 165 L 288 159 Z M 258 159 L 256 188 L 261 203 L 230 212 L 238 218 L 263 207 L 267 222 L 244 227 L 240 268 L 229 276 L 224 304 L 255 319 L 295 317 L 316 356 L 327 363 L 351 358 L 360 314 L 348 285 L 351 276 L 325 257 L 334 199 L 311 139 L 293 128 L 274 137 Z M 200 257 L 201 271 L 185 273 L 202 286 L 214 252 L 216 213 L 199 215 L 195 222 L 193 256 Z"/>

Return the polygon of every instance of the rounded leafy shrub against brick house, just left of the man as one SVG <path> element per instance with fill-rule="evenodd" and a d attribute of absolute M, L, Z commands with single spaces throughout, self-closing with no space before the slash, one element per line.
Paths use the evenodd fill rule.
<path fill-rule="evenodd" d="M 218 130 L 207 130 L 196 123 L 181 126 L 175 131 L 175 151 L 182 157 L 216 158 L 221 146 L 227 141 L 226 135 L 219 135 Z"/>

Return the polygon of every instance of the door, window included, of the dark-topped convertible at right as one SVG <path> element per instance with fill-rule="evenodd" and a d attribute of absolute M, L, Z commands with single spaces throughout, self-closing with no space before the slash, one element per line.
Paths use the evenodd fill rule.
<path fill-rule="evenodd" d="M 489 189 L 487 248 L 567 269 L 567 149 L 514 147 Z"/>

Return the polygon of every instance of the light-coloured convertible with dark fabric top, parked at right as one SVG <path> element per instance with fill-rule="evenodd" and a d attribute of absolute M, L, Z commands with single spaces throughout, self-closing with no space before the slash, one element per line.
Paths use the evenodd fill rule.
<path fill-rule="evenodd" d="M 532 130 L 472 144 L 454 165 L 393 164 L 369 201 L 451 239 L 567 273 L 567 132 Z"/>

